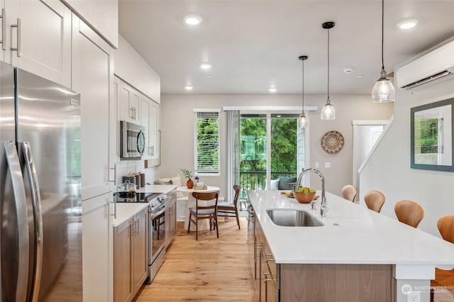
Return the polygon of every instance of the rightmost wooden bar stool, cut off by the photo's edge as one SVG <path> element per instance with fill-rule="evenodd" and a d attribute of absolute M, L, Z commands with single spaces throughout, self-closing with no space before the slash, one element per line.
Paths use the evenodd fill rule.
<path fill-rule="evenodd" d="M 454 243 L 454 216 L 444 216 L 438 219 L 438 232 L 444 240 Z M 454 296 L 454 269 L 435 268 L 435 279 L 431 280 L 431 302 L 433 289 L 446 289 Z"/>

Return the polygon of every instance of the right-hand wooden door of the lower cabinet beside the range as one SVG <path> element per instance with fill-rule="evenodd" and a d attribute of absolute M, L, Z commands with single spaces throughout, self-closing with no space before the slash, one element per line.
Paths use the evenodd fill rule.
<path fill-rule="evenodd" d="M 143 210 L 135 216 L 135 230 L 133 236 L 133 288 L 136 293 L 142 286 L 148 276 L 148 259 L 147 259 L 147 225 L 148 209 Z"/>

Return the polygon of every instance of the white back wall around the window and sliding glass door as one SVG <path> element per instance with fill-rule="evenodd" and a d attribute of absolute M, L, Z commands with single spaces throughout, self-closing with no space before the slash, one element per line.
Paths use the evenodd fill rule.
<path fill-rule="evenodd" d="M 326 177 L 326 189 L 341 195 L 342 186 L 352 182 L 352 121 L 386 120 L 392 116 L 392 104 L 372 104 L 370 96 L 331 96 L 336 108 L 335 121 L 321 121 L 320 109 L 326 96 L 305 96 L 306 106 L 319 106 L 319 111 L 309 113 L 311 125 L 311 167 L 320 162 L 321 172 Z M 301 106 L 301 95 L 162 95 L 160 124 L 162 130 L 161 167 L 157 177 L 172 177 L 180 174 L 181 168 L 194 169 L 194 113 L 193 108 L 222 108 L 223 106 Z M 307 112 L 306 112 L 307 113 Z M 345 146 L 338 154 L 330 155 L 321 148 L 321 138 L 329 130 L 341 132 Z M 221 113 L 221 176 L 203 177 L 201 181 L 221 187 L 225 195 L 226 171 L 226 114 Z M 325 169 L 324 162 L 331 168 Z M 314 179 L 312 186 L 320 187 Z"/>

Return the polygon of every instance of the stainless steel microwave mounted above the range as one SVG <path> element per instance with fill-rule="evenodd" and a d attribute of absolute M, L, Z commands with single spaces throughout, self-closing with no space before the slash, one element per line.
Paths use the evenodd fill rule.
<path fill-rule="evenodd" d="M 145 127 L 120 121 L 120 158 L 140 160 L 145 151 Z"/>

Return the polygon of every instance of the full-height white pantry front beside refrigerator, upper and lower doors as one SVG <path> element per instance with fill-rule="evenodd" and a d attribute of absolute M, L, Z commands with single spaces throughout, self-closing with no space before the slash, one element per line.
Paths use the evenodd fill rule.
<path fill-rule="evenodd" d="M 72 89 L 81 94 L 82 205 L 103 196 L 93 228 L 83 240 L 84 301 L 113 299 L 113 228 L 109 200 L 109 96 L 113 80 L 111 47 L 77 16 L 73 16 Z M 105 196 L 105 197 L 104 197 Z M 83 220 L 84 230 L 86 220 Z M 85 258 L 89 255 L 90 261 Z"/>

